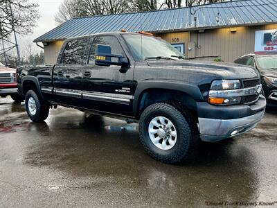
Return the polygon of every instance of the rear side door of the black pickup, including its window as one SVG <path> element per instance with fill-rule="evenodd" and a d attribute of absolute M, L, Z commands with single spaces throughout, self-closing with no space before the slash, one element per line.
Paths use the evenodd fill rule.
<path fill-rule="evenodd" d="M 60 103 L 74 106 L 82 103 L 82 67 L 87 42 L 87 38 L 78 38 L 64 43 L 53 71 L 54 94 Z"/>

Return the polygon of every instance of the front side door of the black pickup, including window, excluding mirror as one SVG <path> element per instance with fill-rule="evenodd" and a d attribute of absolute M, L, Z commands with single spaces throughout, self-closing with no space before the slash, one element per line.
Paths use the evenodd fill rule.
<path fill-rule="evenodd" d="M 134 96 L 134 64 L 129 69 L 121 66 L 98 66 L 95 64 L 96 45 L 111 46 L 111 53 L 126 57 L 118 38 L 113 35 L 93 37 L 89 58 L 83 70 L 84 107 L 101 112 L 129 115 Z"/>

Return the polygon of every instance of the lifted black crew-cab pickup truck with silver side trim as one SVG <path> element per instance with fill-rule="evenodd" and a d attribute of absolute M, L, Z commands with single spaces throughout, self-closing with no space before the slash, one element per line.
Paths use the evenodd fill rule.
<path fill-rule="evenodd" d="M 251 130 L 266 105 L 256 70 L 185 60 L 150 34 L 71 38 L 57 64 L 19 67 L 17 82 L 32 121 L 44 121 L 50 107 L 63 105 L 138 122 L 145 150 L 166 163 L 188 159 L 199 140 Z"/>

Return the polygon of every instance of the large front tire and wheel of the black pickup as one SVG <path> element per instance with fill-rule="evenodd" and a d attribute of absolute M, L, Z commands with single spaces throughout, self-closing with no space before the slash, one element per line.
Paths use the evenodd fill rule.
<path fill-rule="evenodd" d="M 168 164 L 188 159 L 197 144 L 190 119 L 168 103 L 155 103 L 143 111 L 139 133 L 148 154 Z"/>

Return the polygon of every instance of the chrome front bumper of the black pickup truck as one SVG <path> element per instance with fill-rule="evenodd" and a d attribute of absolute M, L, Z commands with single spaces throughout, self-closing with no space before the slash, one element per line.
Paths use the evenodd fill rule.
<path fill-rule="evenodd" d="M 262 119 L 262 116 L 265 114 L 266 105 L 267 102 L 265 97 L 260 96 L 258 102 L 253 106 L 245 106 L 251 109 L 249 110 L 251 114 L 246 115 L 245 112 L 242 112 L 244 116 L 238 116 L 237 118 L 232 119 L 199 117 L 200 138 L 202 141 L 220 141 L 222 139 L 227 139 L 248 132 L 255 128 L 258 122 Z M 233 110 L 233 114 L 239 114 L 239 112 L 236 112 L 239 108 L 234 107 Z M 220 108 L 220 111 L 222 112 L 222 108 Z"/>

